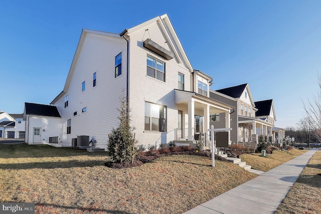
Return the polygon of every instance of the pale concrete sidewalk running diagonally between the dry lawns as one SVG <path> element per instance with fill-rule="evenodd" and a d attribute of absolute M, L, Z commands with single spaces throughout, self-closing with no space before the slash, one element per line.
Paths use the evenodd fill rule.
<path fill-rule="evenodd" d="M 316 151 L 307 151 L 184 213 L 274 213 Z"/>

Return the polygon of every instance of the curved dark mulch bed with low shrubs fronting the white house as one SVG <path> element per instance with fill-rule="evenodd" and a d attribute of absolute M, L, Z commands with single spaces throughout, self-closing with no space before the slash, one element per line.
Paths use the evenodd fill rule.
<path fill-rule="evenodd" d="M 156 158 L 166 157 L 170 155 L 198 155 L 203 157 L 212 157 L 212 153 L 210 151 L 197 151 L 195 149 L 191 149 L 190 147 L 165 147 L 160 150 L 152 150 L 148 152 L 140 152 L 133 163 L 131 162 L 124 162 L 124 163 L 113 163 L 113 162 L 106 162 L 105 166 L 112 168 L 112 169 L 123 169 L 129 167 L 140 166 L 144 163 L 148 163 Z M 226 158 L 221 156 L 215 155 L 215 159 L 221 161 L 228 161 Z"/>

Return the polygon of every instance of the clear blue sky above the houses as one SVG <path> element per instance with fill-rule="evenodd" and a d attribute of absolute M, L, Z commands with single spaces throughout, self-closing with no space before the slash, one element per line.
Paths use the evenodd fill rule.
<path fill-rule="evenodd" d="M 121 33 L 168 14 L 194 69 L 211 89 L 249 83 L 273 99 L 276 126 L 295 126 L 318 92 L 321 1 L 2 1 L 0 110 L 58 95 L 83 28 Z"/>

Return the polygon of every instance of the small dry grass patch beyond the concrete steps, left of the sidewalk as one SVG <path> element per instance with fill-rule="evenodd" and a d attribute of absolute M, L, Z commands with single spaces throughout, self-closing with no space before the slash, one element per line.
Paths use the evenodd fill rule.
<path fill-rule="evenodd" d="M 292 149 L 292 150 L 296 150 L 296 149 Z M 241 160 L 245 161 L 246 164 L 251 165 L 252 169 L 260 170 L 263 172 L 267 172 L 277 167 L 278 165 L 291 160 L 294 157 L 295 156 L 292 156 L 290 154 L 287 154 L 279 150 L 274 150 L 272 154 L 269 154 L 268 156 L 265 156 L 265 157 L 261 157 L 261 153 L 255 153 L 255 155 L 251 155 L 251 154 L 240 155 Z"/>

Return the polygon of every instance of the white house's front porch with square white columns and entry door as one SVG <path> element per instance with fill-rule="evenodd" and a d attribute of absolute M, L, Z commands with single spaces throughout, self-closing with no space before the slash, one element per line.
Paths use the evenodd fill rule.
<path fill-rule="evenodd" d="M 208 146 L 210 133 L 207 130 L 210 129 L 211 115 L 226 113 L 225 128 L 230 128 L 229 113 L 234 109 L 233 106 L 195 92 L 182 90 L 175 90 L 175 100 L 178 106 L 177 128 L 162 133 L 156 141 L 156 148 L 162 143 L 168 144 L 171 141 L 175 141 L 177 145 L 193 145 L 201 141 Z"/>

